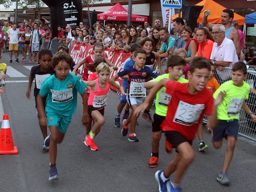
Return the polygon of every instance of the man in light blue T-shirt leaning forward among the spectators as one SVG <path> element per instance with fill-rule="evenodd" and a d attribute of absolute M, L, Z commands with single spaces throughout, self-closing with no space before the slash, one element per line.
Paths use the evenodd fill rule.
<path fill-rule="evenodd" d="M 166 28 L 161 28 L 159 34 L 160 40 L 163 42 L 163 44 L 160 50 L 157 52 L 157 54 L 162 59 L 169 56 L 169 52 L 171 52 L 175 39 L 172 36 L 170 36 Z"/>

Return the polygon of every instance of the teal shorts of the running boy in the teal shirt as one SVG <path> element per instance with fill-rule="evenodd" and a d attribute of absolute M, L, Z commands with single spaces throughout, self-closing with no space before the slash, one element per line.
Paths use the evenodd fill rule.
<path fill-rule="evenodd" d="M 48 127 L 56 126 L 63 134 L 66 133 L 67 127 L 71 122 L 71 115 L 64 116 L 54 112 L 47 112 Z"/>

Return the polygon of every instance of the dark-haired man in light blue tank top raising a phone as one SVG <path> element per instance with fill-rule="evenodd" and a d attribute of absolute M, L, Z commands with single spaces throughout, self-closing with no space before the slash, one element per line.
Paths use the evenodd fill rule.
<path fill-rule="evenodd" d="M 204 16 L 203 16 L 203 25 L 209 29 L 212 29 L 214 24 L 208 23 L 208 10 L 204 11 Z M 237 30 L 231 26 L 231 22 L 234 19 L 234 12 L 230 9 L 224 9 L 222 12 L 222 24 L 225 27 L 225 36 L 229 39 L 231 39 L 235 45 L 236 49 L 236 54 L 240 56 L 241 53 L 241 48 L 240 48 L 240 38 L 239 38 L 239 33 Z"/>

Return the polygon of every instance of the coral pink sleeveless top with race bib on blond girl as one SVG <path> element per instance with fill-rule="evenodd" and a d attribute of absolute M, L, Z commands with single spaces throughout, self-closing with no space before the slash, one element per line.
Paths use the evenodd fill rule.
<path fill-rule="evenodd" d="M 99 88 L 98 79 L 96 79 L 96 91 L 93 91 L 91 89 L 90 96 L 88 99 L 88 105 L 92 105 L 93 107 L 97 109 L 102 109 L 104 106 L 106 106 L 106 100 L 109 92 L 109 82 L 107 81 L 106 87 L 101 90 Z"/>

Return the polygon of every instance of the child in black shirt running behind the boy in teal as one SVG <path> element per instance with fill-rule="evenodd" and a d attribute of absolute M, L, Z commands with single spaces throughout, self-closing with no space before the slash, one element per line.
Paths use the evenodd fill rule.
<path fill-rule="evenodd" d="M 35 100 L 35 108 L 38 114 L 38 105 L 37 105 L 37 96 L 39 94 L 40 88 L 44 80 L 53 75 L 55 73 L 54 69 L 51 67 L 52 63 L 52 52 L 49 49 L 42 49 L 38 54 L 38 63 L 39 65 L 33 66 L 31 68 L 30 77 L 29 77 L 29 85 L 28 90 L 26 92 L 26 96 L 30 99 L 32 82 L 34 81 L 34 100 Z M 45 108 L 46 97 L 43 99 L 43 107 Z M 41 117 L 38 115 L 38 120 Z M 39 127 L 41 129 L 44 143 L 42 145 L 42 151 L 47 152 L 49 150 L 49 137 L 47 137 L 47 123 L 46 121 L 39 121 Z"/>

